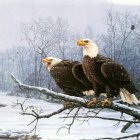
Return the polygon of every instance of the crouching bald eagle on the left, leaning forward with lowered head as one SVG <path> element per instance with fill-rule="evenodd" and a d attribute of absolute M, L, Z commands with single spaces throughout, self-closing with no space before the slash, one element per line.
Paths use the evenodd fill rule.
<path fill-rule="evenodd" d="M 78 61 L 47 57 L 42 62 L 65 94 L 77 97 L 93 94 L 92 83 L 84 75 L 82 64 Z"/>

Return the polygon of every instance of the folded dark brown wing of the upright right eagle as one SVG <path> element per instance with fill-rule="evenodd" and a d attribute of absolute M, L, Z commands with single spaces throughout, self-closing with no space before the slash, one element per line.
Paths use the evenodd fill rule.
<path fill-rule="evenodd" d="M 126 88 L 131 93 L 137 91 L 128 72 L 122 65 L 106 62 L 101 66 L 101 73 L 112 86 Z"/>

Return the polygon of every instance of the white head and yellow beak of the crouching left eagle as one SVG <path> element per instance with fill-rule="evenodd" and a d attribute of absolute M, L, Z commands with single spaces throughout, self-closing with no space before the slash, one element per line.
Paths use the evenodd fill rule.
<path fill-rule="evenodd" d="M 48 71 L 50 71 L 53 66 L 57 65 L 61 61 L 61 59 L 55 57 L 46 57 L 42 59 L 42 63 L 46 66 Z"/>

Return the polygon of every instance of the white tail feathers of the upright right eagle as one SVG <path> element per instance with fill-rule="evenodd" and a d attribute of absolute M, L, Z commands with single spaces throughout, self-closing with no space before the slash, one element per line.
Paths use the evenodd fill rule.
<path fill-rule="evenodd" d="M 121 95 L 123 102 L 126 102 L 128 104 L 136 104 L 136 105 L 138 105 L 138 103 L 139 103 L 137 97 L 134 94 L 131 94 L 130 92 L 128 92 L 124 88 L 121 89 L 120 95 Z"/>

